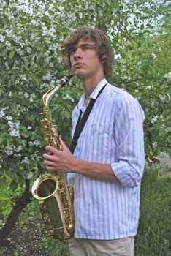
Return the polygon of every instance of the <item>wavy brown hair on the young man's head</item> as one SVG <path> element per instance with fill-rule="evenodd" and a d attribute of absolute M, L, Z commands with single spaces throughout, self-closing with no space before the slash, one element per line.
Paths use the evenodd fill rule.
<path fill-rule="evenodd" d="M 95 48 L 97 50 L 99 61 L 103 65 L 104 76 L 109 78 L 113 72 L 113 48 L 110 45 L 107 35 L 104 34 L 102 30 L 88 27 L 80 26 L 69 34 L 69 37 L 66 37 L 63 44 L 61 45 L 62 56 L 66 68 L 71 71 L 72 66 L 70 62 L 70 50 L 73 45 L 76 45 L 80 39 L 88 40 L 94 42 Z"/>

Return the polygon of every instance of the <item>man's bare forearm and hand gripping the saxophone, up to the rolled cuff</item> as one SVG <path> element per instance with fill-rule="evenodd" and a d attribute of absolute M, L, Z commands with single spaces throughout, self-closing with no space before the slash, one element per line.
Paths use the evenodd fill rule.
<path fill-rule="evenodd" d="M 118 179 L 113 173 L 110 164 L 101 164 L 96 162 L 87 162 L 82 159 L 73 157 L 69 148 L 66 147 L 63 140 L 60 138 L 62 150 L 57 150 L 52 146 L 47 146 L 45 149 L 51 154 L 43 154 L 44 163 L 47 170 L 52 170 L 56 173 L 80 173 L 99 181 L 110 181 L 118 183 Z"/>

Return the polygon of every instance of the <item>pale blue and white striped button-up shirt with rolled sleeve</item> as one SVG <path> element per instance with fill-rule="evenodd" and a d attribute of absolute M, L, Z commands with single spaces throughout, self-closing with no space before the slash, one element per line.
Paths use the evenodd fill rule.
<path fill-rule="evenodd" d="M 94 89 L 96 99 L 107 80 Z M 85 94 L 72 113 L 72 136 Z M 110 164 L 120 181 L 98 181 L 80 173 L 67 175 L 75 189 L 75 238 L 115 239 L 137 233 L 140 181 L 144 169 L 143 110 L 130 94 L 107 83 L 91 110 L 74 155 Z"/>

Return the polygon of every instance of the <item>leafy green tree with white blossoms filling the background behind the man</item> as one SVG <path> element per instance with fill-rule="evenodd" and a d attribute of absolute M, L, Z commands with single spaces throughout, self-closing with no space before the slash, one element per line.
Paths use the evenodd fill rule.
<path fill-rule="evenodd" d="M 20 211 L 31 197 L 29 181 L 44 170 L 40 99 L 66 74 L 60 45 L 77 26 L 96 26 L 110 37 L 115 51 L 110 81 L 137 97 L 145 110 L 146 157 L 169 154 L 169 7 L 169 1 L 159 0 L 0 1 L 0 185 L 10 177 L 12 191 L 25 188 Z M 50 105 L 66 143 L 72 108 L 82 93 L 76 78 L 69 85 Z M 14 224 L 20 214 L 15 210 L 9 215 Z M 0 233 L 1 240 L 9 231 Z"/>

